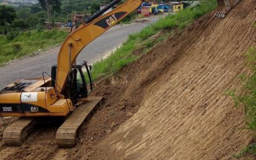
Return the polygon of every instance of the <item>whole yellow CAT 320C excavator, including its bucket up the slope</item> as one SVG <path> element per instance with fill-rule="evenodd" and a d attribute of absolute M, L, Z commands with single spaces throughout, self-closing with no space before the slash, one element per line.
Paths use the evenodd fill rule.
<path fill-rule="evenodd" d="M 42 78 L 23 79 L 0 90 L 0 116 L 20 117 L 4 130 L 5 145 L 21 145 L 37 124 L 38 117 L 46 116 L 67 118 L 57 130 L 57 145 L 76 145 L 78 128 L 102 102 L 102 97 L 89 97 L 93 90 L 91 67 L 86 62 L 76 65 L 76 57 L 85 46 L 143 2 L 127 0 L 102 15 L 120 1 L 110 2 L 67 36 L 60 48 L 57 65 L 52 66 L 51 76 L 43 73 Z M 234 4 L 237 2 L 238 0 Z M 225 17 L 234 4 L 231 6 L 229 0 L 218 1 L 218 6 L 226 6 L 226 9 L 218 11 L 216 16 Z M 83 66 L 86 68 L 88 83 L 82 70 Z"/>

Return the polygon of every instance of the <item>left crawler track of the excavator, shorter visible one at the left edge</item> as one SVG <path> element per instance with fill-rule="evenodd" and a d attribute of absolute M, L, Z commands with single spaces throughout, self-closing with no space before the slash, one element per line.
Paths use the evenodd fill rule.
<path fill-rule="evenodd" d="M 4 130 L 2 135 L 4 145 L 22 145 L 36 123 L 35 118 L 19 118 Z"/>

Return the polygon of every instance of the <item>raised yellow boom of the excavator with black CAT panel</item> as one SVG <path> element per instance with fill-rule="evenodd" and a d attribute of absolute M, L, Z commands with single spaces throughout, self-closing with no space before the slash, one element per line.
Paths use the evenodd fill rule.
<path fill-rule="evenodd" d="M 118 2 L 120 2 L 120 0 L 115 0 L 112 3 L 117 4 Z M 89 18 L 89 20 L 85 21 L 77 30 L 68 35 L 60 48 L 57 58 L 55 89 L 59 94 L 64 92 L 68 73 L 72 69 L 76 57 L 80 54 L 81 50 L 102 33 L 125 18 L 126 15 L 136 10 L 141 3 L 142 0 L 127 0 L 114 10 L 99 18 L 96 18 L 97 14 L 100 14 L 97 13 Z"/>

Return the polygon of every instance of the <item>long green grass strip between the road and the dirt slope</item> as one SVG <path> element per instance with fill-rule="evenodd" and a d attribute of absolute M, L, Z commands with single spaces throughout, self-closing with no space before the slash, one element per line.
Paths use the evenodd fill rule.
<path fill-rule="evenodd" d="M 138 59 L 138 56 L 132 54 L 133 50 L 143 48 L 144 52 L 146 52 L 157 44 L 157 42 L 167 38 L 177 28 L 182 30 L 194 20 L 207 14 L 216 7 L 216 0 L 204 0 L 195 7 L 184 9 L 175 15 L 167 15 L 167 17 L 161 18 L 157 23 L 147 26 L 139 33 L 131 34 L 122 47 L 118 48 L 109 57 L 93 65 L 92 72 L 94 79 L 106 74 L 116 73 L 124 66 Z M 157 39 L 150 39 L 162 30 L 168 30 L 168 33 Z"/>

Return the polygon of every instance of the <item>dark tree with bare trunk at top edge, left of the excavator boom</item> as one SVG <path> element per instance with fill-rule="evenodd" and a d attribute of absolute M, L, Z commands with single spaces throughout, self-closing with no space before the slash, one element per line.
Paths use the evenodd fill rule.
<path fill-rule="evenodd" d="M 60 0 L 38 0 L 43 9 L 46 10 L 48 15 L 48 20 L 51 19 L 52 12 L 60 12 L 61 2 Z"/>

